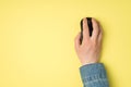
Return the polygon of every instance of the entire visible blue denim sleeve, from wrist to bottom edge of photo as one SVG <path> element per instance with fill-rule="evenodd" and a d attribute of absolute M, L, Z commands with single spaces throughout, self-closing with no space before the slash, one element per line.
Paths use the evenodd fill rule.
<path fill-rule="evenodd" d="M 109 87 L 103 63 L 86 64 L 80 67 L 84 87 Z"/>

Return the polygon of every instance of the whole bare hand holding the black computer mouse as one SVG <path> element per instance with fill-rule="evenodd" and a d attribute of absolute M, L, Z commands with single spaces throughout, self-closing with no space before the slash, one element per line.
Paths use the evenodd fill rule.
<path fill-rule="evenodd" d="M 83 18 L 83 40 L 80 44 L 81 33 L 74 39 L 74 48 L 82 65 L 97 63 L 102 50 L 103 32 L 99 23 L 92 18 L 93 34 L 90 37 L 88 26 L 86 18 Z"/>

